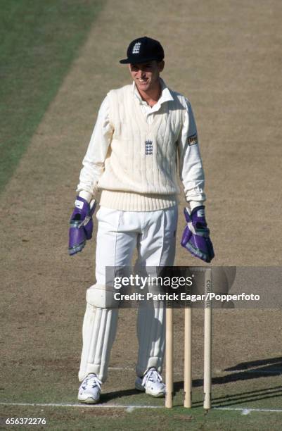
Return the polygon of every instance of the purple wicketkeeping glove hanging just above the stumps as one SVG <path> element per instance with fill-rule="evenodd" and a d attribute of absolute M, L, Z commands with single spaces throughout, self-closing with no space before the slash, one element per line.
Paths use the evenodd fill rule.
<path fill-rule="evenodd" d="M 181 246 L 202 261 L 209 263 L 214 258 L 214 249 L 210 240 L 210 229 L 205 221 L 205 206 L 196 206 L 193 211 L 184 208 L 187 226 L 184 229 Z"/>

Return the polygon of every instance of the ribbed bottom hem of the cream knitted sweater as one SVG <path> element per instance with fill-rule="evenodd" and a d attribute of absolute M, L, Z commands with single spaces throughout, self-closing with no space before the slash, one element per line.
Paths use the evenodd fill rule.
<path fill-rule="evenodd" d="M 100 205 L 120 211 L 158 211 L 178 204 L 175 194 L 139 194 L 103 190 Z"/>

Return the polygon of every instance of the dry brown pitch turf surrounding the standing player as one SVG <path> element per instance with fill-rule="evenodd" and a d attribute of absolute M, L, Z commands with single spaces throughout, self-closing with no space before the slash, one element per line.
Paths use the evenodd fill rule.
<path fill-rule="evenodd" d="M 95 243 L 70 258 L 68 219 L 98 106 L 109 89 L 130 82 L 118 60 L 139 35 L 165 46 L 163 77 L 188 96 L 196 115 L 213 265 L 281 266 L 281 18 L 278 0 L 107 2 L 1 196 L 2 400 L 75 402 Z M 183 206 L 182 199 L 178 237 Z M 176 264 L 196 262 L 178 246 Z M 202 323 L 197 312 L 198 399 Z M 181 369 L 181 313 L 176 325 Z M 276 358 L 281 372 L 281 330 L 280 311 L 214 313 L 215 398 L 233 394 L 230 406 L 236 406 L 236 395 L 240 405 L 254 406 L 248 393 L 257 390 L 264 395 L 260 407 L 281 406 L 275 373 L 226 371 L 240 363 L 253 368 L 252 361 L 263 368 Z M 122 311 L 111 366 L 129 370 L 110 370 L 106 402 L 150 404 L 133 390 L 135 359 L 135 311 Z M 270 399 L 269 391 L 276 396 Z"/>

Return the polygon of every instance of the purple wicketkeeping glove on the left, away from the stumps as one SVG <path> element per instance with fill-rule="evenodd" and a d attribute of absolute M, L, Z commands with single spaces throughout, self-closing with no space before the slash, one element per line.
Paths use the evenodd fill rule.
<path fill-rule="evenodd" d="M 96 201 L 92 200 L 90 205 L 82 197 L 77 196 L 75 210 L 70 218 L 70 239 L 68 253 L 70 256 L 82 251 L 86 239 L 91 239 L 93 231 L 92 215 L 96 208 Z"/>

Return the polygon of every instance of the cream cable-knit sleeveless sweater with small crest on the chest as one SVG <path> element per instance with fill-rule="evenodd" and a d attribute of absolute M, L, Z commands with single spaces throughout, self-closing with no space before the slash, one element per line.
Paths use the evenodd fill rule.
<path fill-rule="evenodd" d="M 111 90 L 113 138 L 98 180 L 101 206 L 122 211 L 155 211 L 177 204 L 177 139 L 184 122 L 185 98 L 170 92 L 148 124 L 132 85 Z"/>

